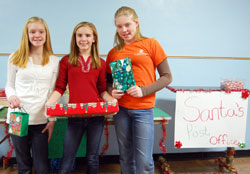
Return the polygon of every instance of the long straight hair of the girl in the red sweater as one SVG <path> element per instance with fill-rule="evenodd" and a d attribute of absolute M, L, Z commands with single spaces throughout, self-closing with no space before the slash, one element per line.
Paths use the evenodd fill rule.
<path fill-rule="evenodd" d="M 73 30 L 73 34 L 72 34 L 72 39 L 71 39 L 70 54 L 69 54 L 68 62 L 72 66 L 79 66 L 78 57 L 79 57 L 80 51 L 76 44 L 76 32 L 81 27 L 89 27 L 93 31 L 95 42 L 92 43 L 91 53 L 90 53 L 91 58 L 92 58 L 92 68 L 93 69 L 99 68 L 101 66 L 101 60 L 99 56 L 98 34 L 97 34 L 95 25 L 90 22 L 80 22 L 79 24 L 75 26 Z"/>

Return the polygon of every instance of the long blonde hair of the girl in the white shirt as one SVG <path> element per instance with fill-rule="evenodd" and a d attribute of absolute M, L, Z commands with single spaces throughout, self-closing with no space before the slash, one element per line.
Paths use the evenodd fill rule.
<path fill-rule="evenodd" d="M 13 53 L 11 56 L 10 62 L 14 65 L 17 65 L 20 68 L 26 68 L 28 60 L 29 60 L 29 52 L 30 52 L 30 41 L 28 35 L 28 25 L 31 23 L 41 23 L 43 24 L 46 32 L 46 40 L 43 46 L 43 60 L 42 65 L 46 65 L 49 63 L 49 56 L 53 54 L 49 28 L 46 22 L 39 17 L 31 17 L 29 18 L 23 28 L 22 39 L 17 51 Z"/>

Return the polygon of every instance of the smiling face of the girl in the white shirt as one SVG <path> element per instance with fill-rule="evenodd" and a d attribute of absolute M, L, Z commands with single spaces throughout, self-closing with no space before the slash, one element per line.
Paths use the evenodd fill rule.
<path fill-rule="evenodd" d="M 42 47 L 46 41 L 46 30 L 44 25 L 39 22 L 29 23 L 28 36 L 32 47 Z"/>

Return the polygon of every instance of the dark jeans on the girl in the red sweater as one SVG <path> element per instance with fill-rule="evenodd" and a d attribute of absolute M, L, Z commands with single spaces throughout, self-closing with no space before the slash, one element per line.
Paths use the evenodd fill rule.
<path fill-rule="evenodd" d="M 87 131 L 87 173 L 99 170 L 99 146 L 104 128 L 104 117 L 69 118 L 63 146 L 60 174 L 70 174 L 82 136 Z"/>

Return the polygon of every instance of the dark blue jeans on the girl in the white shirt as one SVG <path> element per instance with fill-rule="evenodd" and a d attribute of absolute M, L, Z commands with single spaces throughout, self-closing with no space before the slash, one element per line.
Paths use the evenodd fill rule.
<path fill-rule="evenodd" d="M 45 126 L 46 124 L 29 125 L 28 135 L 24 137 L 10 134 L 19 174 L 32 174 L 32 164 L 36 174 L 49 173 L 48 132 L 42 133 Z"/>

